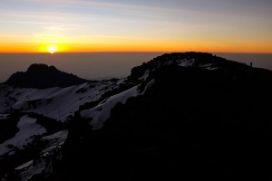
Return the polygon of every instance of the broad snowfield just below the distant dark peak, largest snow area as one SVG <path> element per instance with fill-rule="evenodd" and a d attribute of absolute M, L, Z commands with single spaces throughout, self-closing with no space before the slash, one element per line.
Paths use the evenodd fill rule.
<path fill-rule="evenodd" d="M 0 112 L 10 109 L 35 112 L 46 117 L 64 121 L 86 102 L 99 100 L 106 91 L 118 88 L 118 81 L 96 81 L 67 88 L 44 90 L 0 87 Z"/>

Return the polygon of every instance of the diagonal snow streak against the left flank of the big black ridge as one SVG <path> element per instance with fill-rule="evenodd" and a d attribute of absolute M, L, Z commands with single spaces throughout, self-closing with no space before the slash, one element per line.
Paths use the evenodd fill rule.
<path fill-rule="evenodd" d="M 92 129 L 101 129 L 103 123 L 110 117 L 112 108 L 118 103 L 125 103 L 129 98 L 138 96 L 138 86 L 134 86 L 129 90 L 122 91 L 109 99 L 102 100 L 96 107 L 91 110 L 81 111 L 83 118 L 92 118 L 90 124 Z"/>

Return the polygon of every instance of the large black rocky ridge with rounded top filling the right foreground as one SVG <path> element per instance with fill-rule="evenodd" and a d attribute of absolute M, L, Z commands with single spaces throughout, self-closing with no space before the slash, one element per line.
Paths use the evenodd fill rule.
<path fill-rule="evenodd" d="M 219 68 L 175 63 L 188 55 Z M 146 81 L 156 80 L 151 89 L 113 108 L 102 129 L 73 119 L 50 180 L 272 179 L 272 71 L 172 53 L 132 69 L 131 80 L 147 69 Z"/>

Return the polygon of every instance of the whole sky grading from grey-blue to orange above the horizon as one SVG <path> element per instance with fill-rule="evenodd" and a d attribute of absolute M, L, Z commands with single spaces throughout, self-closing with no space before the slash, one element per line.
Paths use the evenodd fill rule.
<path fill-rule="evenodd" d="M 0 52 L 272 52 L 271 0 L 1 0 Z"/>

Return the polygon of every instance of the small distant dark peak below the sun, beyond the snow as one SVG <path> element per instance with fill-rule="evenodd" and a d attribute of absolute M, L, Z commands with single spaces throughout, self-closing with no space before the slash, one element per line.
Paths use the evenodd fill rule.
<path fill-rule="evenodd" d="M 54 66 L 36 63 L 30 65 L 25 72 L 14 73 L 5 83 L 24 88 L 45 89 L 49 87 L 69 87 L 83 82 L 86 82 L 86 80 L 71 73 L 59 71 Z"/>

